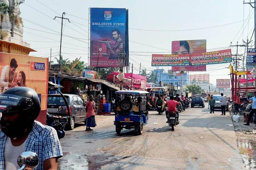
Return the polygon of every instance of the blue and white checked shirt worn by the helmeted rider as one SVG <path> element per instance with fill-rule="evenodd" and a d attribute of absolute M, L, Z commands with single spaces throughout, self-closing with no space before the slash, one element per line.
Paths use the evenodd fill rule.
<path fill-rule="evenodd" d="M 0 130 L 0 169 L 4 169 L 4 146 L 7 136 Z M 63 156 L 57 132 L 50 126 L 34 121 L 33 129 L 26 139 L 25 151 L 35 152 L 39 165 L 35 170 L 44 169 L 44 160 Z"/>

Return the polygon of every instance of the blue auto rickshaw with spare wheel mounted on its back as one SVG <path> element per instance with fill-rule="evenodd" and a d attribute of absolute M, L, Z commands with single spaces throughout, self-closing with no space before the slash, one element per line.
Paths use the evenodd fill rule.
<path fill-rule="evenodd" d="M 116 91 L 115 121 L 116 132 L 135 129 L 141 135 L 148 121 L 149 92 L 142 90 Z"/>

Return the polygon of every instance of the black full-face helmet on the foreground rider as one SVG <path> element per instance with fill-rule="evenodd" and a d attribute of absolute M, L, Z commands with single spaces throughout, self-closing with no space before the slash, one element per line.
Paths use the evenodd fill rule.
<path fill-rule="evenodd" d="M 19 114 L 16 122 L 1 119 L 1 129 L 10 138 L 23 136 L 32 130 L 33 122 L 39 115 L 41 104 L 36 94 L 28 87 L 14 87 L 0 94 L 0 112 L 4 114 Z"/>

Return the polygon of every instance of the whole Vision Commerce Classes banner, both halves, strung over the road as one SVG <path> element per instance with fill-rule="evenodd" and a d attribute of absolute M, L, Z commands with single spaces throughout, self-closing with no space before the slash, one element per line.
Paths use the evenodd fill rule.
<path fill-rule="evenodd" d="M 196 54 L 152 54 L 152 66 L 202 66 L 230 62 L 231 49 Z"/>

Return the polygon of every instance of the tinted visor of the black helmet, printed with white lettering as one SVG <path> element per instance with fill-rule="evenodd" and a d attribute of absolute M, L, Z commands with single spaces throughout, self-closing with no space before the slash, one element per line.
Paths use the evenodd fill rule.
<path fill-rule="evenodd" d="M 11 94 L 0 94 L 0 112 L 3 114 L 27 110 L 32 105 L 32 99 Z"/>

